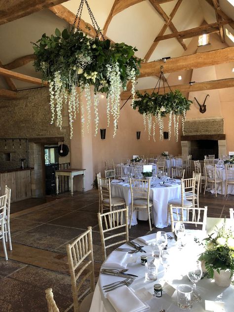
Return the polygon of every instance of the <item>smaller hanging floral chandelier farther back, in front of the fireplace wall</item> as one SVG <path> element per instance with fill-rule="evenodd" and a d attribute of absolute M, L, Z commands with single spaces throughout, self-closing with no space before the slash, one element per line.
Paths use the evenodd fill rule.
<path fill-rule="evenodd" d="M 163 82 L 164 93 L 159 94 L 160 81 Z M 165 92 L 165 82 L 167 83 L 170 92 Z M 158 84 L 157 92 L 155 92 Z M 171 90 L 166 78 L 161 71 L 160 77 L 156 83 L 156 86 L 151 94 L 145 92 L 141 94 L 136 91 L 137 99 L 132 103 L 134 110 L 138 109 L 138 112 L 143 115 L 144 130 L 146 131 L 146 125 L 148 121 L 148 136 L 153 136 L 155 139 L 156 124 L 159 126 L 159 139 L 163 140 L 164 120 L 163 118 L 169 114 L 168 121 L 168 139 L 171 138 L 171 126 L 172 120 L 174 123 L 174 135 L 176 136 L 176 142 L 178 142 L 179 132 L 179 119 L 182 120 L 182 132 L 184 135 L 184 123 L 186 118 L 186 112 L 190 110 L 190 105 L 193 103 L 187 100 L 185 96 L 179 90 L 174 92 Z"/>

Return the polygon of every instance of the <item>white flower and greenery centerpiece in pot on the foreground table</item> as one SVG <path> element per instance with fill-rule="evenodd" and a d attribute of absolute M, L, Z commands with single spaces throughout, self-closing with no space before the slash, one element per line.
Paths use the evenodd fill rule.
<path fill-rule="evenodd" d="M 234 274 L 234 232 L 226 227 L 226 219 L 203 241 L 205 251 L 198 260 L 203 262 L 208 277 L 214 278 L 217 285 L 228 287 Z"/>

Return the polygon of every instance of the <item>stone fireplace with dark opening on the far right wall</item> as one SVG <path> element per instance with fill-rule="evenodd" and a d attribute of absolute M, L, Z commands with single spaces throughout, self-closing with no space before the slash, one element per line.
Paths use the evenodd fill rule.
<path fill-rule="evenodd" d="M 193 159 L 204 155 L 227 154 L 223 118 L 190 119 L 185 121 L 185 135 L 181 136 L 182 154 L 192 154 Z"/>

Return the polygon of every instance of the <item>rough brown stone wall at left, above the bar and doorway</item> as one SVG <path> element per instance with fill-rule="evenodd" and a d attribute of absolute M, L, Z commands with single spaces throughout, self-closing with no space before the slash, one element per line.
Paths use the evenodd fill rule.
<path fill-rule="evenodd" d="M 19 168 L 21 162 L 20 155 L 26 158 L 25 143 L 19 148 L 19 140 L 14 140 L 14 149 L 12 140 L 5 141 L 4 138 L 31 138 L 29 143 L 29 166 L 33 167 L 31 171 L 32 196 L 43 195 L 43 175 L 42 159 L 43 144 L 33 143 L 32 138 L 40 137 L 61 137 L 65 138 L 64 144 L 69 146 L 69 123 L 67 114 L 63 114 L 62 130 L 54 124 L 50 124 L 51 112 L 49 107 L 48 88 L 37 88 L 24 91 L 18 91 L 18 100 L 0 99 L 0 171 L 6 169 Z M 37 140 L 35 140 L 37 142 Z M 54 140 L 56 142 L 56 139 Z M 24 141 L 26 142 L 26 141 Z M 59 143 L 59 142 L 58 142 Z M 22 153 L 21 153 L 22 152 Z M 11 161 L 4 160 L 6 155 L 11 154 Z M 60 163 L 70 162 L 70 153 L 66 157 L 60 157 Z M 64 159 L 66 158 L 66 159 Z M 25 163 L 27 165 L 27 162 Z"/>

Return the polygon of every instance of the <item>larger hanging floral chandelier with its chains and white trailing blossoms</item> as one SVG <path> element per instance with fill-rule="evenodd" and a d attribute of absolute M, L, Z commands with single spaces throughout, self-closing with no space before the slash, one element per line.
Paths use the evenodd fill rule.
<path fill-rule="evenodd" d="M 88 38 L 79 30 L 83 4 L 86 4 L 96 38 Z M 75 28 L 78 19 L 77 31 Z M 99 39 L 100 38 L 100 39 Z M 135 95 L 136 76 L 139 75 L 140 59 L 134 56 L 136 48 L 125 43 L 111 43 L 104 36 L 93 16 L 87 0 L 81 0 L 71 32 L 56 29 L 55 36 L 42 35 L 33 43 L 36 71 L 49 83 L 51 123 L 62 129 L 62 110 L 67 105 L 70 124 L 70 138 L 73 136 L 73 121 L 80 112 L 81 132 L 84 124 L 90 131 L 91 89 L 94 88 L 95 136 L 98 131 L 99 92 L 107 96 L 107 123 L 112 116 L 113 137 L 116 135 L 119 117 L 121 87 L 125 90 L 128 80 L 132 82 L 132 95 Z M 80 87 L 80 92 L 77 87 Z M 86 98 L 86 107 L 82 103 L 82 94 Z M 85 120 L 86 110 L 86 120 Z"/>

